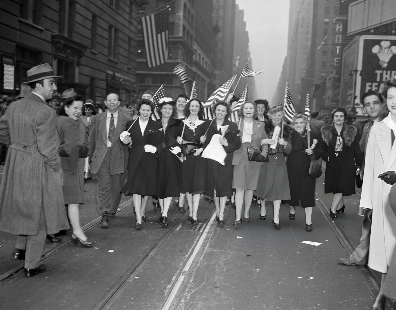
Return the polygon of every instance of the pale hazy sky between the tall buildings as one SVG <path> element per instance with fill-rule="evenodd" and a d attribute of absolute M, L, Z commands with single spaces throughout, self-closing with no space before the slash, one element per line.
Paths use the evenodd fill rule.
<path fill-rule="evenodd" d="M 246 29 L 249 31 L 249 49 L 252 69 L 264 71 L 255 77 L 259 98 L 267 99 L 270 106 L 282 71 L 287 52 L 289 0 L 236 0 L 244 10 Z"/>

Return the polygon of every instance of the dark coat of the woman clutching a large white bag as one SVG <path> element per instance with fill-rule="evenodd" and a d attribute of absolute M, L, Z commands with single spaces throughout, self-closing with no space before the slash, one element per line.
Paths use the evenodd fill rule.
<path fill-rule="evenodd" d="M 232 177 L 234 166 L 232 165 L 232 155 L 234 151 L 240 148 L 241 140 L 239 136 L 236 136 L 238 126 L 234 122 L 225 119 L 222 126 L 227 125 L 228 129 L 225 133 L 225 138 L 227 139 L 228 146 L 223 145 L 226 152 L 224 160 L 225 165 L 223 166 L 211 159 L 206 161 L 206 189 L 204 194 L 210 197 L 214 196 L 214 189 L 216 189 L 217 197 L 230 196 L 233 194 Z M 235 134 L 231 134 L 232 132 L 235 132 Z M 217 130 L 216 120 L 212 122 L 206 134 L 206 140 L 203 146 L 204 149 L 208 146 L 214 134 L 221 134 L 221 130 Z"/>

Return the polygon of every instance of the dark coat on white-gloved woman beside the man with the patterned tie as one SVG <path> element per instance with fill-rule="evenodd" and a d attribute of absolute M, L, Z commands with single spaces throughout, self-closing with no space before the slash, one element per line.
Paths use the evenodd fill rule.
<path fill-rule="evenodd" d="M 126 123 L 127 129 L 133 121 Z M 128 157 L 128 178 L 121 190 L 125 195 L 139 194 L 153 196 L 157 192 L 157 160 L 162 152 L 162 139 L 159 130 L 160 122 L 148 119 L 148 124 L 142 136 L 139 119 L 128 130 L 131 133 L 132 147 Z M 157 150 L 153 153 L 145 152 L 145 145 L 154 145 Z"/>

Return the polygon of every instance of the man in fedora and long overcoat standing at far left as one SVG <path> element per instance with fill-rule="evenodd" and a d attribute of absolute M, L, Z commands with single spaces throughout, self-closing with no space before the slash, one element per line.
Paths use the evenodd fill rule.
<path fill-rule="evenodd" d="M 32 92 L 13 102 L 0 119 L 0 142 L 9 151 L 0 183 L 0 230 L 18 235 L 11 259 L 25 260 L 25 276 L 40 265 L 47 233 L 69 228 L 61 188 L 56 115 L 46 103 L 57 90 L 48 63 L 27 71 Z"/>

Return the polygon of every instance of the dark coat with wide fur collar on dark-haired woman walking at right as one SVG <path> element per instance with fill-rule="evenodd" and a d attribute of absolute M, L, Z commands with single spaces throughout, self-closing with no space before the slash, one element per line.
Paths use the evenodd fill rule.
<path fill-rule="evenodd" d="M 334 153 L 338 135 L 334 125 L 323 126 L 320 131 L 326 145 L 322 155 L 326 161 L 324 192 L 341 192 L 343 196 L 354 194 L 356 166 L 362 166 L 363 161 L 356 127 L 348 124 L 343 125 L 341 130 L 343 150 L 338 157 Z"/>

